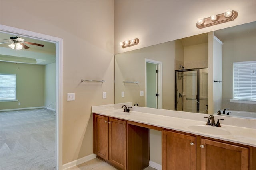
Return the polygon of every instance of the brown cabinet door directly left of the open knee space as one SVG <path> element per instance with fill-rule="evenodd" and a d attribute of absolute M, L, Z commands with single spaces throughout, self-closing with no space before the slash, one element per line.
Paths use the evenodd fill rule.
<path fill-rule="evenodd" d="M 126 121 L 109 119 L 109 162 L 126 170 Z"/>

